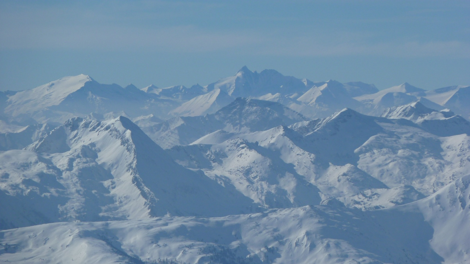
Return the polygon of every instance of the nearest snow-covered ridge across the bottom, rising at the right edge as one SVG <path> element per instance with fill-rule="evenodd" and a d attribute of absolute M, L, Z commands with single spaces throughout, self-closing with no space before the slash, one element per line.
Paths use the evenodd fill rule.
<path fill-rule="evenodd" d="M 1 231 L 11 263 L 467 263 L 469 177 L 412 204 L 334 205 L 222 218 L 54 223 Z M 331 204 L 331 203 L 330 203 Z"/>

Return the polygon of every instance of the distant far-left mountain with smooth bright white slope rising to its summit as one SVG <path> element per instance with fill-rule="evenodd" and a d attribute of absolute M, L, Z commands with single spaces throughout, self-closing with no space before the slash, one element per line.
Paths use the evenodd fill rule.
<path fill-rule="evenodd" d="M 101 84 L 90 76 L 64 77 L 10 96 L 5 113 L 15 121 L 62 123 L 74 116 L 124 111 L 132 117 L 158 114 L 166 117 L 177 102 L 146 93 L 135 86 Z M 28 124 L 31 124 L 29 121 Z"/>

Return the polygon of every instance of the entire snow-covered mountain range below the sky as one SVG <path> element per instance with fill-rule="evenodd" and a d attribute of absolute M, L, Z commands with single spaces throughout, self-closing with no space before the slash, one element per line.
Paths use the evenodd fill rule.
<path fill-rule="evenodd" d="M 246 67 L 0 92 L 0 261 L 469 263 L 469 99 Z"/>

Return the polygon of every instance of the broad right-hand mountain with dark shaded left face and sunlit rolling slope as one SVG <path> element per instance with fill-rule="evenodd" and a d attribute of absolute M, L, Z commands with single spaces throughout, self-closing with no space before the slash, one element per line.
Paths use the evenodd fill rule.
<path fill-rule="evenodd" d="M 470 166 L 465 158 L 469 135 L 440 137 L 403 119 L 344 110 L 292 127 L 305 133 L 305 145 L 299 143 L 305 150 L 335 165 L 357 165 L 390 188 L 412 185 L 429 195 L 464 176 Z"/>

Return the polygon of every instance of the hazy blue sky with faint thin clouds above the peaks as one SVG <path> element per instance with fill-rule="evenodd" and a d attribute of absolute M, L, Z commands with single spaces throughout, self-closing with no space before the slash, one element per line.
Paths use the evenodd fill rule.
<path fill-rule="evenodd" d="M 244 65 L 379 89 L 470 85 L 469 14 L 469 0 L 0 0 L 0 90 L 81 73 L 206 85 Z"/>

